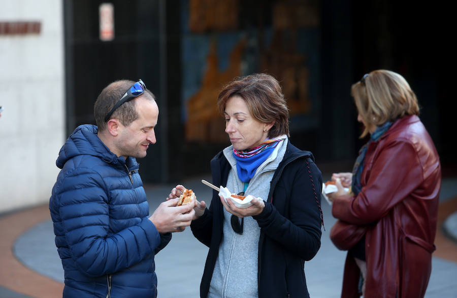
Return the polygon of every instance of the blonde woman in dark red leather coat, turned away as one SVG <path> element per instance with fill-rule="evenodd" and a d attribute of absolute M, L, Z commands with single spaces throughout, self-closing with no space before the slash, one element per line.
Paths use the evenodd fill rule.
<path fill-rule="evenodd" d="M 338 192 L 327 195 L 339 219 L 331 239 L 348 250 L 341 297 L 423 297 L 441 187 L 435 145 L 400 74 L 372 71 L 351 95 L 370 140 L 352 173 L 333 174 Z"/>

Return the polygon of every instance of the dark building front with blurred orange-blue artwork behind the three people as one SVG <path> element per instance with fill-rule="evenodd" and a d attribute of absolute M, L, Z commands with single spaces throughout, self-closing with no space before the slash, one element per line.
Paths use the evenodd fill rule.
<path fill-rule="evenodd" d="M 178 182 L 209 171 L 210 159 L 228 141 L 217 110 L 206 113 L 207 122 L 197 117 L 201 103 L 207 99 L 203 106 L 215 108 L 222 85 L 252 72 L 277 76 L 285 91 L 293 91 L 288 99 L 309 97 L 308 114 L 298 109 L 291 117 L 291 141 L 312 151 L 318 164 L 352 162 L 366 141 L 358 139 L 351 84 L 374 69 L 399 72 L 418 97 L 442 160 L 455 164 L 448 120 L 455 100 L 449 70 L 442 71 L 452 57 L 451 19 L 438 7 L 392 0 L 113 0 L 115 38 L 103 42 L 101 3 L 64 1 L 67 132 L 93 123 L 93 103 L 108 83 L 141 78 L 160 109 L 157 144 L 139 160 L 146 182 Z M 278 36 L 282 42 L 275 43 Z M 287 39 L 295 52 L 282 51 Z M 293 71 L 284 72 L 287 65 Z M 296 92 L 303 85 L 297 73 L 309 73 L 307 96 Z"/>

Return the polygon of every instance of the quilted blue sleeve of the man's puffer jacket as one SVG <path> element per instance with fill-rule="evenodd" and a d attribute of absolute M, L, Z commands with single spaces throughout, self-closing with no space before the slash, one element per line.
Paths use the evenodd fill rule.
<path fill-rule="evenodd" d="M 160 235 L 147 216 L 138 218 L 133 226 L 110 233 L 107 188 L 99 173 L 77 168 L 61 181 L 55 199 L 62 234 L 80 271 L 102 276 L 151 257 L 160 244 Z"/>

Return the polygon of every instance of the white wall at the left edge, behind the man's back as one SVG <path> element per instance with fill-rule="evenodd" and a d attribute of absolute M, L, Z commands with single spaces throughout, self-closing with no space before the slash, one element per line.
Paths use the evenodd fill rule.
<path fill-rule="evenodd" d="M 40 21 L 40 34 L 0 35 L 0 213 L 46 203 L 64 142 L 61 0 L 0 0 L 0 22 Z"/>

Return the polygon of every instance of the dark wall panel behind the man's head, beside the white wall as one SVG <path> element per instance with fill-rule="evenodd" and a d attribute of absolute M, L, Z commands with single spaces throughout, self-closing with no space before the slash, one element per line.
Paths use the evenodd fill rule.
<path fill-rule="evenodd" d="M 64 1 L 67 134 L 81 124 L 95 124 L 93 104 L 109 83 L 142 79 L 160 109 L 157 144 L 140 159 L 145 181 L 168 179 L 166 1 L 112 0 L 114 39 L 102 41 L 99 8 L 106 1 Z M 173 51 L 169 55 L 173 55 Z M 173 58 L 173 57 L 172 57 Z"/>

